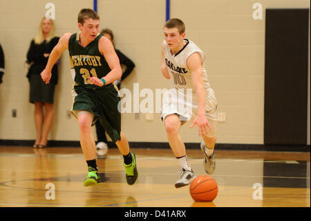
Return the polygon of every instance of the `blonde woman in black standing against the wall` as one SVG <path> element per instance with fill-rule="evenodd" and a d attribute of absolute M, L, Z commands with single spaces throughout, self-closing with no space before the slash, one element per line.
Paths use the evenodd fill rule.
<path fill-rule="evenodd" d="M 58 80 L 58 69 L 55 64 L 52 69 L 50 84 L 46 85 L 40 73 L 46 67 L 50 52 L 59 41 L 55 36 L 53 20 L 41 19 L 39 31 L 32 39 L 27 53 L 27 62 L 30 68 L 27 78 L 30 82 L 30 103 L 35 104 L 35 128 L 37 137 L 34 148 L 44 148 L 48 143 L 48 133 L 54 118 L 54 89 Z M 44 110 L 45 107 L 45 110 Z"/>

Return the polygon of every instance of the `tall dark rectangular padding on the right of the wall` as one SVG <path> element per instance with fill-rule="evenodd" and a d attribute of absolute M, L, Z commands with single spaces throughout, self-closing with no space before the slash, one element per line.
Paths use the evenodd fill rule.
<path fill-rule="evenodd" d="M 267 9 L 265 144 L 307 143 L 308 9 Z"/>

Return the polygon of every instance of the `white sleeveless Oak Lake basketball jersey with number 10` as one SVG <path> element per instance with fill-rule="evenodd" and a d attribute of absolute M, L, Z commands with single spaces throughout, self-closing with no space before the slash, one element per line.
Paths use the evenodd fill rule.
<path fill-rule="evenodd" d="M 171 49 L 167 46 L 167 42 L 163 42 L 164 48 L 164 60 L 167 65 L 167 70 L 169 71 L 169 76 L 171 78 L 171 85 L 176 89 L 184 89 L 185 96 L 187 94 L 187 89 L 191 89 L 192 100 L 196 102 L 196 90 L 194 89 L 194 83 L 192 82 L 191 71 L 187 67 L 187 59 L 193 53 L 200 53 L 202 58 L 202 74 L 203 74 L 203 85 L 205 87 L 205 93 L 209 95 L 209 80 L 207 78 L 207 72 L 205 69 L 205 53 L 198 47 L 194 42 L 188 39 L 184 39 L 185 46 L 175 55 L 171 54 Z M 188 90 L 189 93 L 189 90 Z M 188 94 L 189 96 L 190 94 Z"/>

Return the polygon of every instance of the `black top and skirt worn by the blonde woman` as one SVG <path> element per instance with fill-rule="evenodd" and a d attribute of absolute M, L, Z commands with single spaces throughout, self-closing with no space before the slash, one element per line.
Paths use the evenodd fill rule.
<path fill-rule="evenodd" d="M 48 57 L 44 57 L 44 53 L 50 53 L 59 41 L 59 37 L 54 37 L 50 42 L 42 42 L 35 44 L 32 40 L 30 48 L 27 53 L 27 62 L 30 64 L 27 78 L 30 82 L 30 103 L 41 102 L 51 103 L 54 102 L 54 90 L 58 81 L 57 64 L 53 66 L 52 76 L 50 83 L 46 83 L 41 79 L 40 73 L 45 69 L 48 63 Z"/>

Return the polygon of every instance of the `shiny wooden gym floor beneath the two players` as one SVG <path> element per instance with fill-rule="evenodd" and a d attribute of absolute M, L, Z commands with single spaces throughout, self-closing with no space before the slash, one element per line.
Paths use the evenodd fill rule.
<path fill-rule="evenodd" d="M 310 207 L 310 152 L 216 150 L 211 176 L 218 195 L 213 202 L 194 202 L 189 186 L 174 186 L 179 164 L 171 150 L 132 150 L 136 184 L 126 184 L 123 159 L 111 148 L 106 159 L 97 159 L 102 183 L 84 187 L 80 148 L 0 146 L 0 206 Z M 200 150 L 187 154 L 194 173 L 205 174 Z M 55 200 L 48 200 L 47 184 L 55 186 Z"/>

